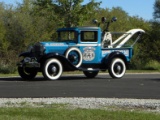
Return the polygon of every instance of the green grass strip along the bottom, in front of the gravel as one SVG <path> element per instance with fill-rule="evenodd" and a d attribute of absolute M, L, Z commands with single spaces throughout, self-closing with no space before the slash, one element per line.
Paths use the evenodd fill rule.
<path fill-rule="evenodd" d="M 65 107 L 4 107 L 0 120 L 160 120 L 160 113 Z"/>

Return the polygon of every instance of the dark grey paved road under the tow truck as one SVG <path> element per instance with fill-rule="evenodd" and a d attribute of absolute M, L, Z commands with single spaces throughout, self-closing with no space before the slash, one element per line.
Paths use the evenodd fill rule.
<path fill-rule="evenodd" d="M 37 77 L 23 81 L 19 77 L 0 78 L 0 98 L 99 97 L 160 99 L 160 74 L 126 74 L 122 79 L 98 75 L 63 75 L 60 80 Z"/>

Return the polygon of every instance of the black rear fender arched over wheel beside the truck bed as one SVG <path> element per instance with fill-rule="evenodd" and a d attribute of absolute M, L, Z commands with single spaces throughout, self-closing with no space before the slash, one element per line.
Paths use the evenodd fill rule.
<path fill-rule="evenodd" d="M 127 65 L 126 56 L 122 52 L 119 52 L 119 51 L 114 51 L 110 53 L 109 55 L 107 55 L 104 58 L 103 62 L 108 67 L 114 58 L 121 58 L 124 61 L 124 63 Z"/>

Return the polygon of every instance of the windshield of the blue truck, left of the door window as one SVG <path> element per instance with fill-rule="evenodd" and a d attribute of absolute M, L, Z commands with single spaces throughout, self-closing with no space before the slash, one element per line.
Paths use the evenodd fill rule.
<path fill-rule="evenodd" d="M 75 31 L 58 31 L 58 41 L 77 41 L 77 32 Z"/>

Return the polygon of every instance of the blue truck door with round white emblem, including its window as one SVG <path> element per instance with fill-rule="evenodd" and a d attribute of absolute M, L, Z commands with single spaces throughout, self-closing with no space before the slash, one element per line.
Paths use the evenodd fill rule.
<path fill-rule="evenodd" d="M 100 62 L 100 44 L 98 43 L 97 30 L 84 30 L 80 32 L 79 47 L 82 52 L 83 63 Z"/>

